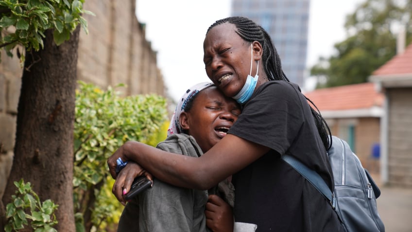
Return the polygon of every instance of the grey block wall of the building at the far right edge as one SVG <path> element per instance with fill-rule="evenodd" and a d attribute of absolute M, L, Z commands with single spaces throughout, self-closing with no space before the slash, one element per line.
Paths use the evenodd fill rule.
<path fill-rule="evenodd" d="M 412 187 L 412 88 L 387 89 L 389 184 Z"/>

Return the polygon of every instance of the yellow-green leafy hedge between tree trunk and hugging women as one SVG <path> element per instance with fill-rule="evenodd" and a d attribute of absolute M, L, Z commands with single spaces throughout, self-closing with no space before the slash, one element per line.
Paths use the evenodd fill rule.
<path fill-rule="evenodd" d="M 112 194 L 107 158 L 124 142 L 155 145 L 166 137 L 166 100 L 158 95 L 120 97 L 79 81 L 74 124 L 74 209 L 76 226 L 98 231 L 116 224 L 123 206 Z M 159 134 L 163 136 L 159 136 Z"/>

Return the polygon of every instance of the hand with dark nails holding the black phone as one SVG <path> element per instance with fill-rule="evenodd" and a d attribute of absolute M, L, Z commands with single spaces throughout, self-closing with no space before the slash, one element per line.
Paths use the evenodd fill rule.
<path fill-rule="evenodd" d="M 115 183 L 113 184 L 112 193 L 120 201 L 122 205 L 126 204 L 124 195 L 130 191 L 133 180 L 139 176 L 146 176 L 148 179 L 152 180 L 153 177 L 150 173 L 142 169 L 137 163 L 133 161 L 128 161 L 126 166 L 120 170 Z"/>

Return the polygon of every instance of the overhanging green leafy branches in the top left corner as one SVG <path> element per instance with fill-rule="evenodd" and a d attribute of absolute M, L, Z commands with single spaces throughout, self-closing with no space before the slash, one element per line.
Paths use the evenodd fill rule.
<path fill-rule="evenodd" d="M 43 49 L 44 32 L 54 29 L 56 45 L 68 40 L 78 24 L 87 31 L 87 21 L 83 14 L 94 13 L 83 9 L 85 0 L 0 0 L 0 47 L 7 55 L 22 45 L 30 52 Z M 6 32 L 6 29 L 13 28 Z M 3 31 L 4 29 L 4 31 Z M 24 54 L 19 55 L 24 64 Z"/>

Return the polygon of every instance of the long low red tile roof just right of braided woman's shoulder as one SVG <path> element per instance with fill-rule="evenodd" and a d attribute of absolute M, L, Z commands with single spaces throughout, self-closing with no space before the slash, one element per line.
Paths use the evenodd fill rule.
<path fill-rule="evenodd" d="M 384 95 L 378 92 L 375 84 L 371 82 L 316 89 L 305 93 L 305 96 L 321 111 L 382 107 L 384 99 Z"/>

